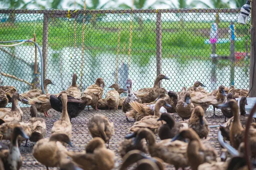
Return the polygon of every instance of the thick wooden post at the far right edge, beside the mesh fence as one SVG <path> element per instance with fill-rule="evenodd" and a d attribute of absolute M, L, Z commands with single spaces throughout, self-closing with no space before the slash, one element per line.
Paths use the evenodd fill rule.
<path fill-rule="evenodd" d="M 254 2 L 254 3 L 253 3 Z M 250 51 L 250 97 L 256 97 L 256 1 L 251 2 L 251 22 L 253 28 L 251 29 L 251 51 Z"/>

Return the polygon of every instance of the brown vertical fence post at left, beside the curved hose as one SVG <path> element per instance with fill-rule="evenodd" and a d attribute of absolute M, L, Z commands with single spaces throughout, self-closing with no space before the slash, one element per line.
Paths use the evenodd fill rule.
<path fill-rule="evenodd" d="M 46 77 L 46 68 L 47 68 L 47 44 L 48 44 L 48 32 L 49 32 L 49 15 L 44 14 L 44 23 L 43 23 L 43 59 L 44 59 L 44 69 L 43 69 L 43 77 Z"/>

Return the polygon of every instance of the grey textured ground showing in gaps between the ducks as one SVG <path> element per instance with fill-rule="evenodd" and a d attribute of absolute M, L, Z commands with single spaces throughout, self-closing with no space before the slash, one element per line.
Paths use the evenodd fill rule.
<path fill-rule="evenodd" d="M 23 121 L 28 122 L 29 120 L 29 108 L 22 108 L 23 111 Z M 42 117 L 45 119 L 46 125 L 47 125 L 47 134 L 46 137 L 49 137 L 51 134 L 51 128 L 55 121 L 57 121 L 61 113 L 58 113 L 54 111 L 53 109 L 48 111 L 49 115 L 51 117 L 44 118 L 43 113 L 38 113 L 38 117 Z M 125 115 L 122 113 L 122 110 L 118 111 L 94 111 L 92 108 L 90 111 L 87 111 L 85 109 L 83 112 L 79 114 L 78 117 L 72 119 L 72 143 L 73 148 L 68 146 L 68 150 L 74 150 L 74 151 L 81 151 L 84 150 L 85 145 L 87 142 L 89 142 L 92 137 L 89 134 L 88 128 L 87 128 L 87 122 L 91 116 L 95 113 L 100 113 L 108 116 L 109 121 L 114 123 L 115 133 L 111 138 L 110 141 L 110 149 L 113 150 L 116 154 L 116 168 L 115 170 L 118 170 L 119 165 L 122 163 L 122 159 L 119 156 L 118 147 L 119 142 L 121 142 L 124 139 L 124 136 L 129 133 L 129 128 L 133 123 L 126 122 Z M 217 115 L 221 116 L 220 119 L 212 119 L 212 111 L 207 111 L 205 116 L 209 123 L 209 125 L 219 125 L 224 123 L 224 117 L 221 116 L 222 113 L 217 111 Z M 175 114 L 176 121 L 180 121 L 181 119 L 177 114 Z M 207 139 L 204 139 L 204 143 L 209 143 L 212 147 L 214 147 L 218 153 L 220 153 L 221 145 L 218 142 L 218 128 L 211 129 L 209 136 Z M 157 136 L 157 141 L 159 141 L 159 137 Z M 21 170 L 45 170 L 46 167 L 36 161 L 34 157 L 32 156 L 32 147 L 23 147 L 25 142 L 23 142 L 20 146 L 20 152 L 23 156 L 23 165 L 21 167 Z M 34 145 L 34 142 L 29 142 L 29 144 Z M 57 170 L 56 167 L 49 167 L 50 170 Z M 175 168 L 172 165 L 166 164 L 167 170 L 174 170 Z M 189 168 L 188 168 L 189 169 Z"/>

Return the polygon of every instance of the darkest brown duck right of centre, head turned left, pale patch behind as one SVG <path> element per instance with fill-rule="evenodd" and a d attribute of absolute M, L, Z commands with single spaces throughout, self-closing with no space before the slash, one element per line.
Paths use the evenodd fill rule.
<path fill-rule="evenodd" d="M 158 136 L 161 140 L 172 139 L 180 131 L 180 129 L 189 128 L 187 122 L 175 122 L 174 115 L 169 113 L 161 114 L 157 121 L 160 120 L 166 122 L 166 124 L 163 124 L 158 128 Z"/>

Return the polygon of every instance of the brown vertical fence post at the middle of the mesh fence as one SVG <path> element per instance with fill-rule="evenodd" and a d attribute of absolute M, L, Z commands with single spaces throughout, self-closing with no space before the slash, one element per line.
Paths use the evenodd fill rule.
<path fill-rule="evenodd" d="M 157 11 L 157 28 L 156 28 L 156 38 L 157 38 L 157 76 L 162 73 L 162 17 L 161 11 Z M 161 85 L 160 85 L 161 86 Z"/>

